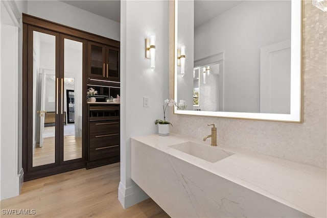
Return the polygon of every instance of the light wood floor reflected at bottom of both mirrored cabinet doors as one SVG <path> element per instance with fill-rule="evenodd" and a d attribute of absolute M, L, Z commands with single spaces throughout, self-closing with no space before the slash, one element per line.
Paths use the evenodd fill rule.
<path fill-rule="evenodd" d="M 43 139 L 43 146 L 36 147 L 33 154 L 33 166 L 55 162 L 55 137 Z M 63 159 L 73 160 L 82 158 L 82 138 L 75 138 L 75 135 L 64 136 Z"/>

